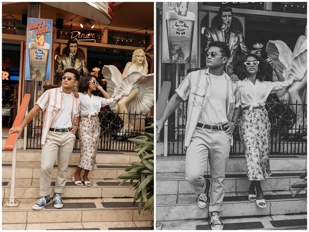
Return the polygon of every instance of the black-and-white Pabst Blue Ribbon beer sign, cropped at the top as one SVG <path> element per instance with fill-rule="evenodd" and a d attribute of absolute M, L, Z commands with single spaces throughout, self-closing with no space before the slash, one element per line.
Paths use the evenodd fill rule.
<path fill-rule="evenodd" d="M 163 2 L 163 63 L 197 62 L 197 2 Z"/>

